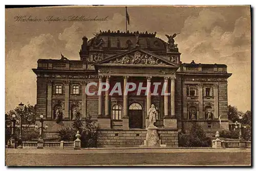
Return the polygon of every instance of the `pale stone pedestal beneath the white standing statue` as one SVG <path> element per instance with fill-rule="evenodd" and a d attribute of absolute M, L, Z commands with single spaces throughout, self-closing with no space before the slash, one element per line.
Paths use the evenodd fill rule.
<path fill-rule="evenodd" d="M 166 146 L 165 144 L 161 144 L 161 140 L 158 137 L 157 127 L 147 127 L 146 128 L 146 139 L 144 140 L 144 144 L 140 145 L 141 147 L 145 146 Z"/>

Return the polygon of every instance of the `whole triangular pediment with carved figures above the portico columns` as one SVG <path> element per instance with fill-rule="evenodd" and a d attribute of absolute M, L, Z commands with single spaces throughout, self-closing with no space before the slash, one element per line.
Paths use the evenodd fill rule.
<path fill-rule="evenodd" d="M 162 58 L 149 51 L 135 48 L 124 53 L 120 53 L 96 63 L 95 65 L 152 65 L 152 66 L 173 66 L 178 67 L 177 63 L 172 63 L 169 60 Z"/>

